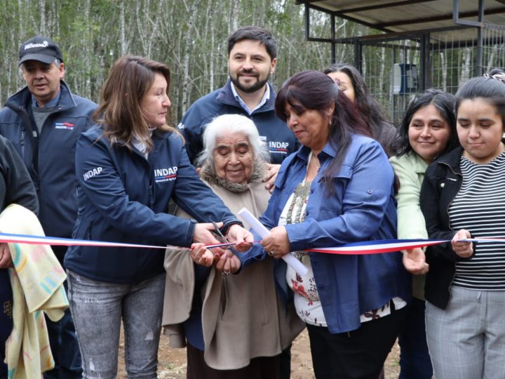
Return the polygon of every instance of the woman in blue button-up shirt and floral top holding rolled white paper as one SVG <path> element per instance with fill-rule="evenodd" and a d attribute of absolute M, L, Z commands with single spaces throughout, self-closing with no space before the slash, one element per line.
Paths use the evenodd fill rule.
<path fill-rule="evenodd" d="M 288 79 L 276 114 L 302 147 L 283 161 L 260 218 L 271 234 L 243 265 L 295 251 L 309 273 L 276 260 L 276 281 L 284 295 L 294 293 L 307 324 L 316 378 L 378 378 L 410 299 L 401 254 L 302 250 L 396 238 L 393 169 L 379 143 L 362 135 L 364 121 L 351 101 L 322 72 Z"/>

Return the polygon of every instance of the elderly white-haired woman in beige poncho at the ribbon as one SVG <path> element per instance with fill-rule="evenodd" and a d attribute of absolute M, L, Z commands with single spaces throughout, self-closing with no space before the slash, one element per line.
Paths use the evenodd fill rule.
<path fill-rule="evenodd" d="M 253 121 L 217 117 L 203 145 L 201 179 L 232 213 L 245 207 L 259 217 L 270 197 L 262 183 L 269 154 Z M 165 257 L 163 325 L 171 346 L 187 345 L 187 378 L 278 378 L 281 351 L 304 326 L 277 298 L 272 260 L 229 275 L 208 253 L 168 249 Z"/>

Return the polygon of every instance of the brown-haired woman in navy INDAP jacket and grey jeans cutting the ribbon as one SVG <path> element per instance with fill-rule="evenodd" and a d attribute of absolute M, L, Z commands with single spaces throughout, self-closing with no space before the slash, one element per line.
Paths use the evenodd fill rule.
<path fill-rule="evenodd" d="M 180 135 L 166 125 L 170 70 L 123 57 L 102 88 L 97 125 L 76 146 L 79 214 L 74 238 L 149 245 L 217 243 L 210 223 L 247 248 L 253 241 L 198 178 Z M 166 213 L 175 203 L 196 220 Z M 242 243 L 242 244 L 241 244 Z M 231 253 L 216 268 L 236 270 Z M 156 378 L 165 274 L 163 249 L 73 246 L 65 258 L 83 378 L 113 378 L 119 328 L 125 329 L 128 376 Z"/>

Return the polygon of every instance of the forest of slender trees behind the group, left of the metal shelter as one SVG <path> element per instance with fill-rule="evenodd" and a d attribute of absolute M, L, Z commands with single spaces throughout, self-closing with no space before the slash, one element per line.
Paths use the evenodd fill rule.
<path fill-rule="evenodd" d="M 227 81 L 227 38 L 237 27 L 256 25 L 274 34 L 275 88 L 295 72 L 330 65 L 330 44 L 305 40 L 304 6 L 295 0 L 3 0 L 0 20 L 2 105 L 25 86 L 19 46 L 37 34 L 60 46 L 72 91 L 95 102 L 110 67 L 122 55 L 166 63 L 172 72 L 173 125 L 192 102 Z M 337 20 L 340 37 L 365 29 Z M 315 15 L 311 34 L 328 37 L 330 18 Z M 352 46 L 337 48 L 337 62 L 353 60 Z"/>

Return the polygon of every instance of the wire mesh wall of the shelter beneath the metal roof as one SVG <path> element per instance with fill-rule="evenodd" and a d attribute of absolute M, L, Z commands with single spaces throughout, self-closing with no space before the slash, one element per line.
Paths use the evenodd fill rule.
<path fill-rule="evenodd" d="M 505 28 L 494 25 L 485 25 L 480 35 L 478 28 L 468 27 L 358 43 L 365 83 L 394 124 L 417 92 L 456 93 L 471 77 L 505 67 Z"/>

